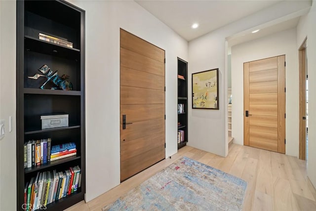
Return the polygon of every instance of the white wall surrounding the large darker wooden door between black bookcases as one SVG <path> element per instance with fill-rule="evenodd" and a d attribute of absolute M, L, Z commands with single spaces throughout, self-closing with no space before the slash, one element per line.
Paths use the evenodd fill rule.
<path fill-rule="evenodd" d="M 119 28 L 165 50 L 166 157 L 177 152 L 177 56 L 188 42 L 134 1 L 76 1 L 86 11 L 86 201 L 119 184 Z"/>

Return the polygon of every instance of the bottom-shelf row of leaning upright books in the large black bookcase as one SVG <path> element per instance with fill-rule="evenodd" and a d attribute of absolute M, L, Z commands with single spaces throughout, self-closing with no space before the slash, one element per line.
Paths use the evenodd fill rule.
<path fill-rule="evenodd" d="M 46 205 L 58 201 L 78 190 L 81 186 L 81 169 L 79 166 L 65 171 L 38 172 L 25 185 L 23 208 L 26 211 L 45 209 Z"/>

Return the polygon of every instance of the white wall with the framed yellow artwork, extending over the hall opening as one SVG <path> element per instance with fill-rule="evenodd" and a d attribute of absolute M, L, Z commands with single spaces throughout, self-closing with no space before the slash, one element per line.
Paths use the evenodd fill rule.
<path fill-rule="evenodd" d="M 225 38 L 277 18 L 297 17 L 311 5 L 309 1 L 282 1 L 223 28 L 189 42 L 189 81 L 191 74 L 219 68 L 220 110 L 189 109 L 189 143 L 201 150 L 226 156 L 228 153 L 227 124 L 227 43 Z M 192 90 L 189 86 L 189 96 Z M 235 97 L 234 97 L 235 98 Z M 189 105 L 192 99 L 189 98 Z M 234 113 L 234 111 L 232 112 Z"/>

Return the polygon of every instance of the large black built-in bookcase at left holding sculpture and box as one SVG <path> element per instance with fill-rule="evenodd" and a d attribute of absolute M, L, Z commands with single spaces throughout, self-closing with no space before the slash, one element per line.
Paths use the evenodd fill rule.
<path fill-rule="evenodd" d="M 85 11 L 64 0 L 17 1 L 17 209 L 23 210 L 24 188 L 38 172 L 64 171 L 79 166 L 81 185 L 64 198 L 46 205 L 44 210 L 64 210 L 82 200 L 85 194 L 84 126 L 84 18 Z M 67 47 L 39 39 L 39 33 L 73 43 Z M 46 64 L 53 73 L 68 75 L 72 90 L 40 89 L 47 78 L 41 74 Z M 65 113 L 69 127 L 41 129 L 41 115 Z M 51 138 L 51 145 L 75 142 L 77 155 L 24 168 L 24 143 Z"/>

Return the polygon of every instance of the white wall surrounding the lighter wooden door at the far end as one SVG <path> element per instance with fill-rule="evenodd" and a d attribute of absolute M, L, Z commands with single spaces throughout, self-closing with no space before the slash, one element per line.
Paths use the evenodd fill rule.
<path fill-rule="evenodd" d="M 296 28 L 232 47 L 232 136 L 243 145 L 243 63 L 285 54 L 285 154 L 298 156 L 298 52 Z"/>

